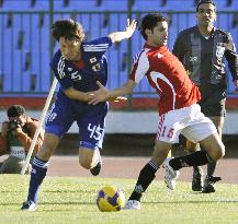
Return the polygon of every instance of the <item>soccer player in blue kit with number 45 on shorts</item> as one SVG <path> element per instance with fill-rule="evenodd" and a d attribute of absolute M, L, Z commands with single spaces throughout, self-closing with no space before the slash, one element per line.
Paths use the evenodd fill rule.
<path fill-rule="evenodd" d="M 90 169 L 92 175 L 99 175 L 107 103 L 89 105 L 87 92 L 98 90 L 97 81 L 106 84 L 107 62 L 104 52 L 113 43 L 132 37 L 135 28 L 136 22 L 127 20 L 124 32 L 86 42 L 80 23 L 59 20 L 53 24 L 52 35 L 59 43 L 59 50 L 54 55 L 50 66 L 60 87 L 46 120 L 43 146 L 32 164 L 29 196 L 22 210 L 36 210 L 37 192 L 46 176 L 48 161 L 73 121 L 80 129 L 79 164 Z"/>

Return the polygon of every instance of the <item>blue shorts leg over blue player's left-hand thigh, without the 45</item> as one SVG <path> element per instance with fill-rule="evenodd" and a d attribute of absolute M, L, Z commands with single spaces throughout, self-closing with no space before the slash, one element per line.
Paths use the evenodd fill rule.
<path fill-rule="evenodd" d="M 52 106 L 45 125 L 45 131 L 61 138 L 75 121 L 72 106 L 68 101 L 57 99 Z"/>

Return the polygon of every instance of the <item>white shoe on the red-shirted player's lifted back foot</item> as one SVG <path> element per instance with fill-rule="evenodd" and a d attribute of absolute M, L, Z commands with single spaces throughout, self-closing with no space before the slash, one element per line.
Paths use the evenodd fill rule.
<path fill-rule="evenodd" d="M 166 175 L 165 175 L 165 182 L 167 187 L 170 190 L 175 189 L 175 180 L 180 175 L 179 170 L 174 170 L 170 165 L 169 162 L 171 161 L 171 157 L 167 157 L 166 161 L 163 162 L 162 167 L 166 169 Z"/>

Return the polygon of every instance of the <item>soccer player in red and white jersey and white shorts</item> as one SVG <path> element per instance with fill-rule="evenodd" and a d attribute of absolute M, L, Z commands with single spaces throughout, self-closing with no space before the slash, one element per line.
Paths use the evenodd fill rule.
<path fill-rule="evenodd" d="M 144 76 L 147 76 L 158 93 L 159 123 L 156 145 L 150 162 L 140 170 L 135 189 L 126 203 L 125 208 L 129 210 L 140 210 L 143 192 L 154 180 L 162 163 L 167 187 L 173 190 L 180 168 L 204 165 L 222 158 L 225 154 L 225 146 L 215 126 L 201 113 L 201 107 L 196 104 L 201 98 L 199 89 L 189 79 L 179 59 L 167 47 L 167 19 L 161 14 L 145 15 L 140 34 L 146 44 L 134 61 L 127 83 L 109 91 L 98 82 L 99 90 L 89 93 L 89 104 L 95 105 L 132 93 Z M 167 158 L 171 145 L 179 141 L 180 133 L 193 142 L 200 142 L 206 151 Z"/>

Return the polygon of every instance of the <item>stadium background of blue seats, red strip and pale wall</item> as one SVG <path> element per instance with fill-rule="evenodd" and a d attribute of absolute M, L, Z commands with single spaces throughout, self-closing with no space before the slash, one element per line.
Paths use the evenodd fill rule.
<path fill-rule="evenodd" d="M 238 1 L 214 1 L 218 9 L 216 26 L 230 32 L 238 46 Z M 139 22 L 144 14 L 160 11 L 171 19 L 172 49 L 177 34 L 195 25 L 196 3 L 197 0 L 0 0 L 0 120 L 7 119 L 5 108 L 12 104 L 24 105 L 29 115 L 39 118 L 53 81 L 49 61 L 58 48 L 50 38 L 50 24 L 55 20 L 78 20 L 88 39 L 92 39 L 123 30 L 127 17 Z M 131 40 L 109 50 L 107 87 L 127 80 L 132 58 L 143 43 L 136 32 Z M 230 76 L 227 96 L 224 141 L 227 156 L 237 156 L 238 95 Z M 103 154 L 149 155 L 157 130 L 156 101 L 157 94 L 144 80 L 126 103 L 111 104 Z M 78 153 L 76 132 L 72 126 L 56 153 Z"/>

